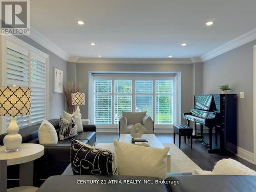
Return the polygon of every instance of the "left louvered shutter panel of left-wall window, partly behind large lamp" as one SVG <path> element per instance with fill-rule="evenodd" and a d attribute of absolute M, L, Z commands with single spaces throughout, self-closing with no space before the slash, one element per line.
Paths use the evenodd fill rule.
<path fill-rule="evenodd" d="M 7 86 L 16 84 L 18 87 L 30 86 L 29 50 L 7 41 L 6 44 L 6 83 Z M 7 124 L 10 124 L 7 117 Z M 29 116 L 17 116 L 19 127 L 29 124 Z"/>

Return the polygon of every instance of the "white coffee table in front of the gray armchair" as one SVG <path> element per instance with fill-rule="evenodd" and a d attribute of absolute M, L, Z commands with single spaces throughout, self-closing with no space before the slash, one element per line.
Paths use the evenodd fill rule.
<path fill-rule="evenodd" d="M 151 147 L 164 148 L 162 143 L 154 134 L 144 134 L 141 136 L 141 138 L 146 138 L 148 144 L 150 144 Z M 120 134 L 119 141 L 124 143 L 131 143 L 131 140 L 131 134 Z M 167 172 L 170 172 L 170 153 L 167 154 Z"/>

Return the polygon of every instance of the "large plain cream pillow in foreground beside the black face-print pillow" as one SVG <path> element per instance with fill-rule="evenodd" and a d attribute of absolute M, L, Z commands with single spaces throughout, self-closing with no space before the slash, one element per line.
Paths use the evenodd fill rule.
<path fill-rule="evenodd" d="M 166 178 L 169 147 L 154 148 L 114 139 L 118 175 Z"/>

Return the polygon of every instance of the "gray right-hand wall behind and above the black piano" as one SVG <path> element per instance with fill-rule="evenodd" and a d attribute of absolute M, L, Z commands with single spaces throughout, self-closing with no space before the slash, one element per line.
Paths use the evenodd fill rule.
<path fill-rule="evenodd" d="M 253 46 L 256 40 L 212 58 L 203 64 L 203 93 L 221 93 L 218 86 L 229 84 L 238 98 L 238 146 L 253 153 Z"/>

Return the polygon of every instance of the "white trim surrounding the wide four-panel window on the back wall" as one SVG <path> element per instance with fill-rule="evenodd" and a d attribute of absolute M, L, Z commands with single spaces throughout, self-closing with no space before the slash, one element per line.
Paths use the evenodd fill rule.
<path fill-rule="evenodd" d="M 155 77 L 157 79 L 168 79 L 170 76 L 173 76 L 175 78 L 175 82 L 174 83 L 174 90 L 175 90 L 175 94 L 174 94 L 174 99 L 176 102 L 174 102 L 174 109 L 176 111 L 176 113 L 174 113 L 174 123 L 180 123 L 181 122 L 181 98 L 180 98 L 180 93 L 181 93 L 181 72 L 93 72 L 93 71 L 89 71 L 89 103 L 88 103 L 88 114 L 89 114 L 89 119 L 91 122 L 93 122 L 93 98 L 94 98 L 94 76 L 97 76 L 97 79 L 110 79 L 109 77 L 112 76 L 112 83 L 114 83 L 114 80 L 125 80 L 126 77 L 127 79 L 131 80 L 132 79 L 132 86 L 133 88 L 135 88 L 135 79 L 137 80 L 143 80 L 143 79 L 148 79 L 148 77 L 150 77 L 151 79 L 153 79 L 153 103 L 156 102 L 156 97 L 154 96 L 155 94 Z M 139 76 L 139 79 L 137 78 Z M 112 85 L 113 86 L 113 85 Z M 114 89 L 114 88 L 113 88 Z M 135 92 L 135 89 L 133 89 L 133 92 Z M 133 94 L 132 94 L 133 95 Z M 133 104 L 133 109 L 134 105 L 135 105 L 135 95 L 134 97 L 132 97 L 132 104 Z M 112 107 L 112 113 L 114 113 L 114 108 Z M 153 104 L 153 111 L 155 111 L 155 104 Z M 117 124 L 111 124 L 111 125 L 97 125 L 97 127 L 99 129 L 118 129 L 118 125 Z M 173 129 L 173 124 L 158 124 L 156 126 L 156 129 Z"/>

